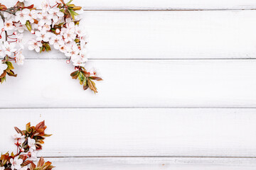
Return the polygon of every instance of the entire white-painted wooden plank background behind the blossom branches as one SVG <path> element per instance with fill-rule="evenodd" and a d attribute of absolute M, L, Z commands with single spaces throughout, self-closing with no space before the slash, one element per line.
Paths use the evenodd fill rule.
<path fill-rule="evenodd" d="M 57 170 L 256 168 L 255 0 L 74 3 L 100 93 L 58 52 L 24 52 L 0 89 L 0 152 L 14 125 L 46 120 L 38 156 Z"/>

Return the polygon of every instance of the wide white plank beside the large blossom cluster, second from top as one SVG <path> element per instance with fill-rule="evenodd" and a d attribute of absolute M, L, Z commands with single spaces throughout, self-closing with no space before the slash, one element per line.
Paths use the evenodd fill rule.
<path fill-rule="evenodd" d="M 256 11 L 86 11 L 82 18 L 91 59 L 256 56 Z M 56 50 L 24 54 L 33 59 L 65 57 Z"/>

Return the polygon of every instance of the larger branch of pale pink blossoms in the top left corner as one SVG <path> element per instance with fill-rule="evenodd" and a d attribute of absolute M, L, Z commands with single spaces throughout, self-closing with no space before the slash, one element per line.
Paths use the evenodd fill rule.
<path fill-rule="evenodd" d="M 1 14 L 4 20 L 2 33 L 6 33 L 6 42 L 0 46 L 0 57 L 4 57 L 0 66 L 0 73 L 3 72 L 0 77 L 1 82 L 6 79 L 6 74 L 9 75 L 7 72 L 9 69 L 13 73 L 14 67 L 11 65 L 9 68 L 8 62 L 15 60 L 17 64 L 23 64 L 22 35 L 25 30 L 33 34 L 33 38 L 28 41 L 28 50 L 43 52 L 50 51 L 53 47 L 68 57 L 67 63 L 72 62 L 75 70 L 87 72 L 84 67 L 88 58 L 88 36 L 80 27 L 81 7 L 70 4 L 72 1 L 65 4 L 63 0 L 55 0 L 55 4 L 50 4 L 48 0 L 44 0 L 41 4 L 41 11 L 36 10 L 33 5 L 25 6 L 22 1 L 18 1 L 12 8 L 6 8 L 0 4 L 0 11 L 4 12 L 4 15 Z M 11 35 L 8 35 L 9 32 Z M 16 47 L 17 45 L 20 47 Z M 14 75 L 16 76 L 16 74 Z M 84 89 L 90 88 L 97 92 L 92 80 L 100 81 L 102 79 L 92 77 L 96 77 L 95 72 L 87 72 L 86 75 L 84 74 L 78 79 Z M 83 81 L 84 79 L 87 81 Z"/>

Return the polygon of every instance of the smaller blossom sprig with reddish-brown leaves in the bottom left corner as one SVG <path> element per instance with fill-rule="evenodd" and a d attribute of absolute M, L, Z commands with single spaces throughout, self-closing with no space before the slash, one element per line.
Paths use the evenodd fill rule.
<path fill-rule="evenodd" d="M 17 153 L 1 154 L 0 170 L 36 170 L 45 169 L 51 170 L 53 166 L 51 162 L 44 162 L 41 157 L 37 166 L 33 162 L 37 160 L 36 154 L 39 149 L 42 149 L 43 140 L 50 136 L 45 133 L 46 125 L 43 122 L 36 126 L 26 125 L 26 130 L 20 130 L 15 127 L 17 134 L 14 135 Z"/>

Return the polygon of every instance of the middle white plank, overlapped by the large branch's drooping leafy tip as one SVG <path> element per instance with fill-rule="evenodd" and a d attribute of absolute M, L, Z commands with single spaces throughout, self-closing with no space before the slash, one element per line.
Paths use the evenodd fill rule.
<path fill-rule="evenodd" d="M 99 94 L 65 60 L 27 60 L 1 84 L 1 108 L 256 107 L 256 60 L 90 60 Z"/>

